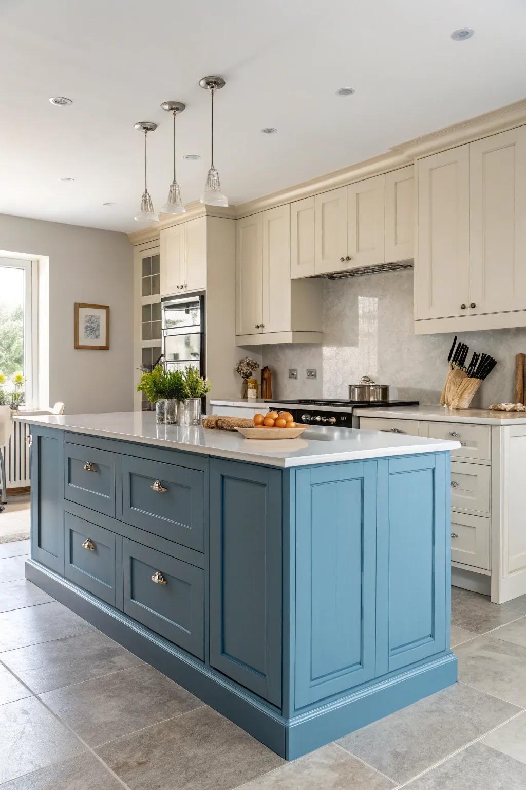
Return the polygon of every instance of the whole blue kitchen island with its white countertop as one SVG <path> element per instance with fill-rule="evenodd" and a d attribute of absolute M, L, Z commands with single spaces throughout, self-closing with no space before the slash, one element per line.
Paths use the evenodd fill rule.
<path fill-rule="evenodd" d="M 31 422 L 26 576 L 287 759 L 457 680 L 450 450 Z"/>

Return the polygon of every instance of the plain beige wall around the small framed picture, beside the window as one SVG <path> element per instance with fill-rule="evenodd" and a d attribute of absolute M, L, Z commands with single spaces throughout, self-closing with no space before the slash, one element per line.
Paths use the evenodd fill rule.
<path fill-rule="evenodd" d="M 0 249 L 49 258 L 50 404 L 64 401 L 69 414 L 131 411 L 133 270 L 127 236 L 0 214 Z M 109 351 L 73 348 L 75 302 L 110 305 Z"/>

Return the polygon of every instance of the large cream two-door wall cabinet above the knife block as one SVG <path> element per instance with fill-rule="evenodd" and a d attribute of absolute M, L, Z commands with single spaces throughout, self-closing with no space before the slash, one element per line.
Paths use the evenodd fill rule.
<path fill-rule="evenodd" d="M 416 333 L 526 325 L 526 127 L 417 167 Z"/>

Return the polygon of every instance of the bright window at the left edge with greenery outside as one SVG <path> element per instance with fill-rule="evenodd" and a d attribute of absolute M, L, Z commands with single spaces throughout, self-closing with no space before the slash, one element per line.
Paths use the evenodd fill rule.
<path fill-rule="evenodd" d="M 0 373 L 3 400 L 23 393 L 21 402 L 32 403 L 32 261 L 0 258 Z M 22 374 L 25 382 L 13 382 Z M 0 397 L 2 397 L 0 395 Z"/>

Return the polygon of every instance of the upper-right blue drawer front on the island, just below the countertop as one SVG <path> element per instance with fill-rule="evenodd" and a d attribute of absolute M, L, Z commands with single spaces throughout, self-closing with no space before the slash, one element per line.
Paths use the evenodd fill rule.
<path fill-rule="evenodd" d="M 122 520 L 203 551 L 204 473 L 123 455 Z"/>

